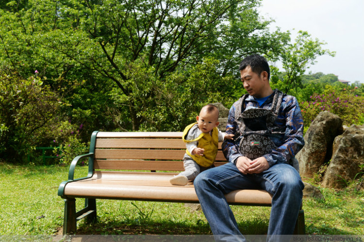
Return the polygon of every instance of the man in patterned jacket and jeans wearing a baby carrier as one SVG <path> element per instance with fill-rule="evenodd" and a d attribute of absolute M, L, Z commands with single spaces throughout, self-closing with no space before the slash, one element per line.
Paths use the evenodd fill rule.
<path fill-rule="evenodd" d="M 194 185 L 219 241 L 244 241 L 224 194 L 238 189 L 269 192 L 269 240 L 277 238 L 269 235 L 292 234 L 298 217 L 304 185 L 295 155 L 304 145 L 303 120 L 295 97 L 271 89 L 264 57 L 248 56 L 239 71 L 248 94 L 229 112 L 226 133 L 235 138 L 222 144 L 229 163 L 202 172 Z"/>

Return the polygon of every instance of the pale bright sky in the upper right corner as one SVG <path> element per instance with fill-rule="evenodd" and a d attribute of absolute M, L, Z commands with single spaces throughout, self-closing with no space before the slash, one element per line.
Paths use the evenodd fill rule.
<path fill-rule="evenodd" d="M 336 52 L 318 57 L 308 71 L 364 83 L 364 0 L 262 0 L 260 10 L 275 20 L 272 30 L 290 30 L 293 40 L 298 30 L 307 31 Z"/>

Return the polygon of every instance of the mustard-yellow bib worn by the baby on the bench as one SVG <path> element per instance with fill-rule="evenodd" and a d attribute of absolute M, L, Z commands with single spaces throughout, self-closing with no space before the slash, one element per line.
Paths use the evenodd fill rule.
<path fill-rule="evenodd" d="M 188 134 L 188 131 L 194 126 L 197 122 L 191 123 L 188 125 L 182 135 L 183 142 L 188 143 L 191 141 L 199 141 L 197 147 L 202 148 L 205 151 L 203 152 L 203 155 L 193 155 L 188 150 L 186 150 L 186 153 L 192 157 L 194 161 L 196 161 L 197 164 L 203 167 L 209 167 L 212 166 L 216 159 L 217 154 L 217 147 L 218 147 L 218 129 L 215 127 L 212 130 L 212 135 L 209 133 L 201 133 L 197 138 L 193 140 L 186 140 L 185 137 Z"/>

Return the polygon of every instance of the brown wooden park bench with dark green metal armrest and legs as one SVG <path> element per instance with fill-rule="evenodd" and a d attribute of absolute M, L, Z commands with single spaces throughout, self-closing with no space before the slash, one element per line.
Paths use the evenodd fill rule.
<path fill-rule="evenodd" d="M 68 180 L 58 189 L 58 196 L 65 199 L 63 233 L 76 233 L 76 221 L 83 217 L 96 221 L 96 199 L 198 203 L 193 183 L 176 186 L 169 182 L 183 171 L 185 149 L 182 132 L 95 131 L 89 153 L 73 159 Z M 74 179 L 75 167 L 84 158 L 88 158 L 88 175 Z M 220 146 L 215 166 L 225 162 Z M 262 190 L 237 190 L 225 197 L 232 205 L 271 206 L 272 200 Z M 85 198 L 85 207 L 78 212 L 75 198 Z M 303 210 L 295 234 L 305 234 Z"/>

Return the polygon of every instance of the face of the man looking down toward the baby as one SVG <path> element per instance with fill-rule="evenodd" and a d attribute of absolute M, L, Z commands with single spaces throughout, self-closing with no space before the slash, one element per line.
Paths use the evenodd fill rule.
<path fill-rule="evenodd" d="M 266 72 L 262 72 L 258 75 L 251 70 L 250 66 L 247 66 L 244 70 L 240 71 L 240 79 L 249 95 L 256 98 L 264 97 L 262 95 L 264 95 L 265 91 L 265 73 Z"/>

